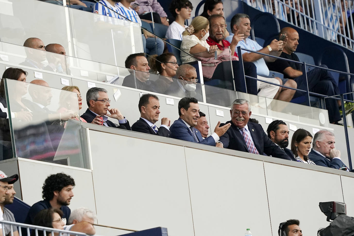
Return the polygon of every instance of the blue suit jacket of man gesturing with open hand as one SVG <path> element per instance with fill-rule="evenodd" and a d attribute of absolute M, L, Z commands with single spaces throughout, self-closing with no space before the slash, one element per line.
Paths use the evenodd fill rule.
<path fill-rule="evenodd" d="M 170 131 L 170 138 L 196 143 L 192 131 L 190 130 L 190 128 L 187 127 L 187 125 L 185 125 L 181 118 L 178 118 L 178 120 L 175 120 L 175 122 L 173 122 L 170 127 Z M 199 143 L 215 146 L 215 139 L 212 136 L 203 139 L 198 129 L 194 128 L 194 132 L 199 140 Z"/>

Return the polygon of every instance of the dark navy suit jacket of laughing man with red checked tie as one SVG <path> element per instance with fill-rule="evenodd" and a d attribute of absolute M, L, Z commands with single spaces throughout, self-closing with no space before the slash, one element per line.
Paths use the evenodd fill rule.
<path fill-rule="evenodd" d="M 226 131 L 226 133 L 224 133 L 224 135 L 220 137 L 219 142 L 224 145 L 224 148 L 249 152 L 241 132 L 234 125 L 234 123 L 228 121 L 225 124 L 221 124 L 220 126 L 226 125 L 228 123 L 231 123 L 231 126 Z M 258 150 L 259 154 L 262 155 L 263 153 L 265 153 L 268 156 L 272 155 L 273 157 L 292 160 L 285 153 L 284 150 L 281 150 L 279 146 L 277 146 L 275 143 L 272 142 L 272 140 L 268 138 L 261 125 L 253 122 L 248 122 L 247 125 L 250 130 L 253 143 L 255 144 L 255 147 Z"/>

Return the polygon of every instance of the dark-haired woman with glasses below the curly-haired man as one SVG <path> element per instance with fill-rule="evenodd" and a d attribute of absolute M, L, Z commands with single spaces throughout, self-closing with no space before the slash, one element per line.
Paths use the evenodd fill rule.
<path fill-rule="evenodd" d="M 36 214 L 33 225 L 62 230 L 66 224 L 66 219 L 62 217 L 63 212 L 59 209 L 44 209 Z M 46 235 L 49 234 L 50 231 L 46 231 Z M 59 235 L 59 233 L 54 233 L 54 235 Z M 32 230 L 31 236 L 35 236 L 35 230 Z M 44 236 L 42 230 L 38 230 L 38 236 Z"/>

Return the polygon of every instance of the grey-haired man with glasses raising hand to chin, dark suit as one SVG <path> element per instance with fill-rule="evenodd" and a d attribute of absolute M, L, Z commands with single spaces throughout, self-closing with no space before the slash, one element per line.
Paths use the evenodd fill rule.
<path fill-rule="evenodd" d="M 125 119 L 120 111 L 117 108 L 109 108 L 110 99 L 107 90 L 104 88 L 90 88 L 86 93 L 86 102 L 89 108 L 80 117 L 87 123 L 131 130 L 129 121 Z M 117 119 L 119 125 L 109 121 L 108 117 Z"/>

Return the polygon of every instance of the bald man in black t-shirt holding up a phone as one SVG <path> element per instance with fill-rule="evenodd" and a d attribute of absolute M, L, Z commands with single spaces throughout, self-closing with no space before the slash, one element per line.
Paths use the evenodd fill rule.
<path fill-rule="evenodd" d="M 280 57 L 291 59 L 299 62 L 299 58 L 294 53 L 299 45 L 299 34 L 291 27 L 285 27 L 280 31 L 281 34 L 286 34 L 288 41 L 284 47 Z M 323 68 L 328 68 L 326 65 L 321 65 Z M 295 62 L 284 61 L 281 59 L 275 62 L 268 63 L 269 70 L 278 71 L 284 74 L 284 77 L 293 79 L 297 83 L 297 88 L 307 90 L 306 79 L 302 76 L 301 64 Z M 339 88 L 328 70 L 315 68 L 307 72 L 308 88 L 310 92 L 333 96 L 339 94 Z M 299 97 L 303 93 L 296 92 L 294 97 Z M 326 108 L 330 123 L 337 123 L 341 120 L 338 107 L 341 106 L 340 100 L 325 99 Z"/>

